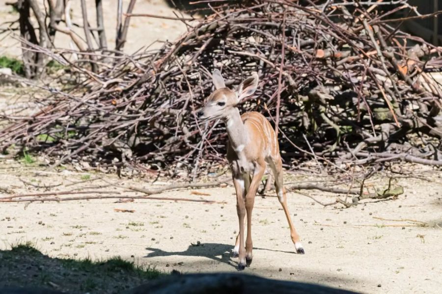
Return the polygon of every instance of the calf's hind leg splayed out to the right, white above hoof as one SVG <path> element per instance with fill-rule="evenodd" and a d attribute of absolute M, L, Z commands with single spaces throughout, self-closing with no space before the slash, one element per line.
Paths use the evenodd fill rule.
<path fill-rule="evenodd" d="M 287 208 L 287 196 L 285 193 L 285 188 L 283 187 L 283 174 L 282 174 L 282 160 L 275 160 L 276 162 L 271 162 L 270 167 L 273 170 L 273 174 L 275 177 L 275 187 L 276 187 L 276 195 L 278 196 L 279 203 L 282 205 L 282 209 L 284 210 L 285 217 L 287 217 L 287 221 L 290 227 L 290 237 L 292 238 L 293 243 L 295 244 L 295 249 L 297 253 L 304 254 L 304 248 L 299 239 L 299 235 L 296 232 L 295 226 L 293 225 L 292 219 L 290 217 L 290 213 Z"/>

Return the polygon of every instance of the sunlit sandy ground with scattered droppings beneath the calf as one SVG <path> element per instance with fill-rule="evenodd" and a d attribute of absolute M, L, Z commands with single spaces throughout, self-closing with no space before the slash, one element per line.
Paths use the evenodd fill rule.
<path fill-rule="evenodd" d="M 121 191 L 123 187 L 151 187 L 141 179 L 69 171 L 45 172 L 2 160 L 0 183 L 15 193 L 45 190 Z M 275 197 L 256 197 L 253 211 L 253 263 L 245 273 L 275 279 L 320 283 L 361 293 L 440 293 L 442 287 L 442 175 L 422 171 L 428 181 L 407 178 L 398 184 L 405 194 L 398 200 L 359 205 L 350 209 L 323 208 L 310 198 L 289 193 L 289 209 L 302 237 L 305 255 L 294 253 L 286 219 Z M 55 185 L 50 189 L 32 185 Z M 104 179 L 104 181 L 100 180 Z M 288 181 L 325 181 L 297 175 Z M 318 182 L 320 185 L 324 182 Z M 369 184 L 382 187 L 382 175 Z M 165 184 L 165 183 L 157 183 Z M 345 187 L 345 186 L 343 186 Z M 24 241 L 51 257 L 105 259 L 119 255 L 166 272 L 235 272 L 231 257 L 237 225 L 233 187 L 169 191 L 162 197 L 208 199 L 220 203 L 136 200 L 115 203 L 89 200 L 60 203 L 0 203 L 0 249 Z M 307 191 L 323 202 L 334 196 Z M 133 213 L 114 209 L 134 210 Z M 376 217 L 390 219 L 382 220 Z M 418 222 L 427 227 L 416 225 Z M 397 221 L 400 220 L 400 221 Z M 198 241 L 200 244 L 198 244 Z"/>

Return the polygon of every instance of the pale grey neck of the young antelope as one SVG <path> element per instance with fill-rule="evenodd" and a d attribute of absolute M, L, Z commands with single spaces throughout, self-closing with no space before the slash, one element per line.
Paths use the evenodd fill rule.
<path fill-rule="evenodd" d="M 225 125 L 232 148 L 236 153 L 243 151 L 247 144 L 248 134 L 237 107 L 230 110 L 230 113 L 226 116 Z"/>

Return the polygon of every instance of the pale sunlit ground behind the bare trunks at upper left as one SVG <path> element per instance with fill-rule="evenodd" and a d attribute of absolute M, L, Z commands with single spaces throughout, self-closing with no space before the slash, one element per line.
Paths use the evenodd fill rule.
<path fill-rule="evenodd" d="M 10 5 L 6 5 L 9 0 L 0 0 L 0 27 L 5 27 L 6 22 L 18 19 L 18 13 L 12 12 Z M 40 4 L 42 5 L 43 1 Z M 105 29 L 108 47 L 115 48 L 116 35 L 116 15 L 117 2 L 114 0 L 103 0 L 103 13 L 105 16 Z M 123 12 L 126 12 L 130 0 L 123 0 Z M 72 21 L 74 24 L 83 24 L 82 10 L 80 1 L 71 1 L 72 5 Z M 88 7 L 88 19 L 92 27 L 95 27 L 95 1 L 86 1 Z M 165 0 L 138 0 L 132 13 L 147 13 L 161 16 L 175 17 L 187 15 L 182 14 L 178 10 L 172 9 Z M 188 16 L 187 16 L 188 17 Z M 123 17 L 124 22 L 124 17 Z M 4 24 L 4 25 L 1 25 Z M 36 24 L 34 27 L 38 27 Z M 73 27 L 74 31 L 78 32 L 80 36 L 84 35 L 83 28 Z M 157 49 L 162 46 L 162 42 L 175 40 L 179 35 L 187 30 L 186 25 L 176 20 L 165 20 L 158 18 L 133 17 L 130 22 L 130 27 L 127 35 L 127 42 L 124 47 L 124 52 L 134 53 L 141 47 L 151 45 L 151 49 Z M 17 31 L 19 33 L 19 31 Z M 5 37 L 3 39 L 3 37 Z M 19 56 L 21 54 L 20 44 L 7 34 L 0 35 L 0 55 Z M 55 38 L 55 47 L 70 48 L 70 37 L 65 34 L 57 33 Z M 159 41 L 159 42 L 156 42 Z M 155 42 L 155 43 L 154 43 Z"/>

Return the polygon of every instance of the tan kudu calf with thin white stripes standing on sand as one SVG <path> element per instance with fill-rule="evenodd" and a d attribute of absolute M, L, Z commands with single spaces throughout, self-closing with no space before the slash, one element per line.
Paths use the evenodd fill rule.
<path fill-rule="evenodd" d="M 197 112 L 204 121 L 221 119 L 229 137 L 227 160 L 232 171 L 236 190 L 239 234 L 236 238 L 234 255 L 239 256 L 238 269 L 242 270 L 252 261 L 251 213 L 255 194 L 267 164 L 275 177 L 276 194 L 290 226 L 290 236 L 296 252 L 304 254 L 304 248 L 296 233 L 287 208 L 286 191 L 283 187 L 282 160 L 275 131 L 269 121 L 258 112 L 240 115 L 238 103 L 252 95 L 258 86 L 258 74 L 244 80 L 236 91 L 225 86 L 218 69 L 212 74 L 215 91 L 207 99 L 205 106 Z M 247 214 L 247 239 L 244 242 L 244 217 Z M 246 246 L 244 246 L 244 244 Z"/>

